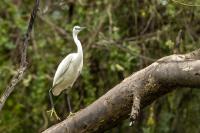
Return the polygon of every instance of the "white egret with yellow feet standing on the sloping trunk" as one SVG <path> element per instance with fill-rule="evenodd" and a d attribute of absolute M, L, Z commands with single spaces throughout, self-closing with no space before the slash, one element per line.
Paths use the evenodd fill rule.
<path fill-rule="evenodd" d="M 85 27 L 74 26 L 73 28 L 73 39 L 77 46 L 77 53 L 71 53 L 67 55 L 59 64 L 54 79 L 53 79 L 53 87 L 49 90 L 49 97 L 51 101 L 50 110 L 51 116 L 55 113 L 57 119 L 59 119 L 58 115 L 56 114 L 53 98 L 51 91 L 54 96 L 58 96 L 63 90 L 71 88 L 81 73 L 83 67 L 83 50 L 81 46 L 81 42 L 78 40 L 78 33 L 85 29 Z M 71 113 L 71 107 L 69 98 L 67 97 L 69 111 Z"/>

